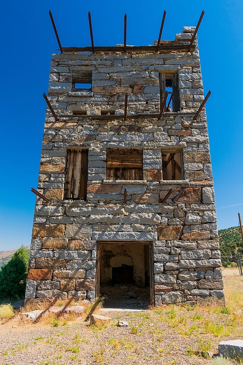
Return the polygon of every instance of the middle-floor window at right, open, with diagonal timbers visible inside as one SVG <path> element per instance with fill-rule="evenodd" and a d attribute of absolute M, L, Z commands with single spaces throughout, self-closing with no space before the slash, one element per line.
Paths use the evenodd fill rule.
<path fill-rule="evenodd" d="M 162 179 L 163 180 L 182 180 L 182 151 L 181 150 L 162 150 Z"/>

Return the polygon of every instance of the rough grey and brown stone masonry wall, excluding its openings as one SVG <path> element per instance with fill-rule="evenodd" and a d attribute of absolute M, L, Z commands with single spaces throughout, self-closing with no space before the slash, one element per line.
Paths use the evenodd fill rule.
<path fill-rule="evenodd" d="M 188 42 L 194 28 L 176 35 Z M 187 43 L 189 44 L 189 43 Z M 54 54 L 26 299 L 95 297 L 97 241 L 153 243 L 155 303 L 224 304 L 211 160 L 197 50 Z M 72 72 L 92 70 L 92 91 L 72 91 Z M 158 73 L 178 73 L 181 111 L 158 120 Z M 128 119 L 99 119 L 102 110 Z M 85 110 L 86 116 L 74 116 Z M 129 118 L 131 114 L 148 114 Z M 106 180 L 107 148 L 141 148 L 141 181 Z M 161 151 L 182 150 L 184 180 L 163 180 Z M 87 202 L 63 200 L 68 148 L 89 150 Z M 127 202 L 124 203 L 124 189 Z M 168 191 L 172 194 L 162 203 Z"/>

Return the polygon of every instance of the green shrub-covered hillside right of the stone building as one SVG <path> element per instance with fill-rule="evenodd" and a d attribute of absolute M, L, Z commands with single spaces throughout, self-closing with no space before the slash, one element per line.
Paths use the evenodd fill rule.
<path fill-rule="evenodd" d="M 221 256 L 232 257 L 236 255 L 236 252 L 238 252 L 243 258 L 240 227 L 231 227 L 219 230 L 219 245 Z M 224 267 L 236 265 L 236 259 L 231 257 L 222 257 L 222 264 Z"/>

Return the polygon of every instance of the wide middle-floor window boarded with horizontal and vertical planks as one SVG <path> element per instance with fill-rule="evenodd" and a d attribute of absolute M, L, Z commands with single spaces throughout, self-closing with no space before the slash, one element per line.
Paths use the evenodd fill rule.
<path fill-rule="evenodd" d="M 142 149 L 106 150 L 107 180 L 142 180 Z"/>

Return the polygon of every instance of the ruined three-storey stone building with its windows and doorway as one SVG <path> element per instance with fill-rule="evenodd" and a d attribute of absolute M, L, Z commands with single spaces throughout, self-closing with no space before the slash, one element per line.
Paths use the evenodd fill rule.
<path fill-rule="evenodd" d="M 224 305 L 194 30 L 158 51 L 52 55 L 58 120 L 47 108 L 37 188 L 48 201 L 36 197 L 26 301 L 130 285 L 152 304 Z"/>

